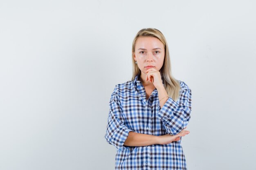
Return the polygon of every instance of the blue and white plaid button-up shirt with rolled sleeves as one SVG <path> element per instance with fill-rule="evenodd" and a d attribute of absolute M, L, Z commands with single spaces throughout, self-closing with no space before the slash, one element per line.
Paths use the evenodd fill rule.
<path fill-rule="evenodd" d="M 146 100 L 139 75 L 133 81 L 117 84 L 111 95 L 108 125 L 104 138 L 117 148 L 116 170 L 186 170 L 181 140 L 170 144 L 125 146 L 130 131 L 149 135 L 176 135 L 189 123 L 191 89 L 180 82 L 180 97 L 168 98 L 160 108 L 157 89 Z"/>

